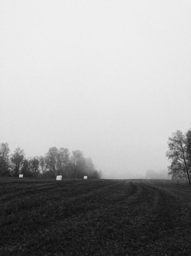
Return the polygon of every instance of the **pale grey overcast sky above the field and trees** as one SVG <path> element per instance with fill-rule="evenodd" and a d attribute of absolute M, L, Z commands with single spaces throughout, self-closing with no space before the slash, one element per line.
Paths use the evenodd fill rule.
<path fill-rule="evenodd" d="M 3 0 L 0 143 L 81 150 L 104 178 L 167 170 L 191 128 L 190 0 Z"/>

